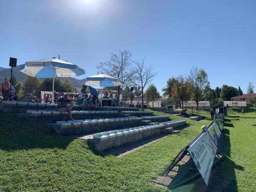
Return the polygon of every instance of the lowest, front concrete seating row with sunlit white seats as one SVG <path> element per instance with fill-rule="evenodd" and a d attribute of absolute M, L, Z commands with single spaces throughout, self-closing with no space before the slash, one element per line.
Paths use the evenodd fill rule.
<path fill-rule="evenodd" d="M 104 151 L 107 148 L 117 147 L 125 143 L 132 143 L 152 135 L 160 134 L 161 128 L 164 127 L 165 125 L 155 124 L 108 131 L 102 134 L 94 134 L 93 139 L 88 139 L 87 141 L 97 151 Z"/>

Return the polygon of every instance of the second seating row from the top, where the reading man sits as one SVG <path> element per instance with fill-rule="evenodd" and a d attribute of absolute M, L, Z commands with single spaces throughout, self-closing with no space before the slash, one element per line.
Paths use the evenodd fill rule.
<path fill-rule="evenodd" d="M 135 112 L 135 113 L 134 113 Z M 99 118 L 113 118 L 120 115 L 152 115 L 150 111 L 126 111 L 125 113 L 118 111 L 72 111 L 74 119 L 99 119 Z M 67 112 L 53 111 L 53 110 L 27 110 L 26 118 L 34 123 L 55 123 L 56 121 L 67 121 L 69 116 Z"/>

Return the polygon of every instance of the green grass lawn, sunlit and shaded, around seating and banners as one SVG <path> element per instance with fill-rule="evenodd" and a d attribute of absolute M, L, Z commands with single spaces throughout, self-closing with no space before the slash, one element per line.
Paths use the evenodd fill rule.
<path fill-rule="evenodd" d="M 166 191 L 150 182 L 201 132 L 202 125 L 209 125 L 210 115 L 200 113 L 207 119 L 187 119 L 192 126 L 186 130 L 122 157 L 94 153 L 85 140 L 56 135 L 46 125 L 0 113 L 0 191 Z M 248 111 L 247 118 L 227 117 L 226 156 L 220 170 L 222 185 L 230 191 L 256 189 L 256 127 L 250 125 L 256 123 L 253 116 Z"/>

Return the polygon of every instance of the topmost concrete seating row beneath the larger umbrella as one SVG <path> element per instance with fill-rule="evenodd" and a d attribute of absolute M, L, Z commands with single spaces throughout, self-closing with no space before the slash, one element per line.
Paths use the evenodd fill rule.
<path fill-rule="evenodd" d="M 57 104 L 40 103 L 40 102 L 9 102 L 3 101 L 0 104 L 0 111 L 5 113 L 26 113 L 27 110 L 57 110 Z M 79 110 L 81 106 L 74 105 L 73 110 Z M 105 107 L 96 107 L 93 111 L 111 110 Z"/>

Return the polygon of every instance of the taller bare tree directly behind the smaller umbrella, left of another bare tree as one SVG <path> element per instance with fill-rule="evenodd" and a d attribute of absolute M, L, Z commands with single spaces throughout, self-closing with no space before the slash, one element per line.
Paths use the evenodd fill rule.
<path fill-rule="evenodd" d="M 123 62 L 121 51 L 119 51 L 119 54 L 113 54 L 113 52 L 111 52 L 110 59 L 108 61 L 101 62 L 98 66 L 96 66 L 96 68 L 99 70 L 99 73 L 105 73 L 106 75 L 120 79 L 120 81 L 123 83 L 122 87 L 131 85 L 135 73 L 131 62 L 131 52 L 129 50 L 123 51 Z M 113 87 L 113 90 L 117 91 L 119 99 L 122 87 Z"/>

